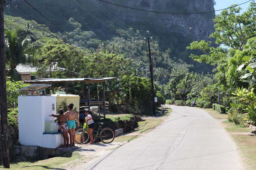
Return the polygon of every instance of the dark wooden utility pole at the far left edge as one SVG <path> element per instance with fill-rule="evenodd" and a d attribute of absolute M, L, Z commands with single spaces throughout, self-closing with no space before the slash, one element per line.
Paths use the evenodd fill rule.
<path fill-rule="evenodd" d="M 5 77 L 5 31 L 4 31 L 4 4 L 6 0 L 0 0 L 0 114 L 1 114 L 1 136 L 2 164 L 10 168 L 8 148 L 8 126 L 7 126 L 7 94 Z"/>

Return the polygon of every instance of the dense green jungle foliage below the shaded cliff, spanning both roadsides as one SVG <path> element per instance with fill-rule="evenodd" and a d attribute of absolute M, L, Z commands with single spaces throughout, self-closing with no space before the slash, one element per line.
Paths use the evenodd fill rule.
<path fill-rule="evenodd" d="M 158 106 L 165 99 L 187 106 L 196 100 L 199 107 L 217 106 L 217 110 L 228 112 L 230 121 L 255 124 L 256 111 L 252 105 L 256 99 L 256 5 L 251 3 L 244 13 L 240 10 L 233 7 L 216 15 L 215 31 L 209 35 L 214 43 L 193 41 L 186 47 L 185 53 L 192 52 L 190 58 L 194 63 L 173 55 L 177 54 L 175 48 L 163 48 L 161 39 L 151 41 Z M 109 109 L 118 112 L 122 106 L 127 113 L 150 115 L 148 47 L 143 38 L 138 38 L 142 34 L 130 34 L 135 31 L 132 28 L 118 28 L 117 34 L 103 40 L 93 31 L 84 31 L 78 21 L 68 19 L 72 27 L 67 35 L 46 26 L 42 29 L 36 21 L 5 15 L 6 69 L 10 82 L 20 80 L 16 70 L 20 64 L 35 67 L 34 74 L 40 78 L 116 77 L 107 82 Z M 192 71 L 195 63 L 210 64 L 213 72 L 205 73 L 205 67 Z M 88 87 L 83 83 L 57 83 L 55 87 L 87 96 Z M 100 84 L 98 88 L 102 95 Z M 92 98 L 96 97 L 96 84 L 91 84 L 90 89 Z M 218 102 L 218 92 L 221 106 L 213 105 Z M 10 106 L 12 115 L 15 108 Z"/>

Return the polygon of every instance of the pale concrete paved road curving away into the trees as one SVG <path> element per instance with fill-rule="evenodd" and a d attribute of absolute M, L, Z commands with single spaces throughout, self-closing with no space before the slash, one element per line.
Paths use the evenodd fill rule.
<path fill-rule="evenodd" d="M 117 148 L 86 169 L 242 170 L 234 142 L 207 112 L 171 106 L 155 130 Z"/>

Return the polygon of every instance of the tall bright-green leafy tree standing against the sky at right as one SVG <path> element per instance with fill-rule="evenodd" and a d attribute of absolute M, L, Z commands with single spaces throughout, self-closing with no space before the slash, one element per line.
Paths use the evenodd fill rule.
<path fill-rule="evenodd" d="M 187 49 L 201 50 L 204 53 L 202 55 L 191 54 L 190 57 L 193 60 L 217 65 L 214 70 L 217 83 L 221 91 L 228 91 L 229 94 L 237 87 L 244 85 L 239 81 L 242 73 L 237 74 L 236 69 L 242 62 L 242 56 L 247 53 L 244 49 L 256 35 L 254 22 L 256 5 L 251 3 L 242 14 L 240 10 L 240 7 L 233 7 L 216 15 L 215 32 L 210 37 L 215 38 L 215 43 L 222 46 L 216 48 L 210 41 L 201 40 L 194 41 L 187 47 Z"/>

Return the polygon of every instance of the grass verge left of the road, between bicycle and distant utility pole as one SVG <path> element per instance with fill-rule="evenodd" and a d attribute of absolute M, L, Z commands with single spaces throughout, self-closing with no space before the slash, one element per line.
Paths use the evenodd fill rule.
<path fill-rule="evenodd" d="M 168 109 L 160 117 L 152 117 L 152 116 L 143 117 L 145 121 L 138 122 L 139 127 L 136 130 L 121 136 L 117 136 L 115 138 L 115 142 L 130 142 L 131 140 L 138 138 L 139 135 L 141 135 L 142 133 L 146 133 L 153 130 L 155 127 L 160 125 L 166 119 L 166 117 L 171 114 L 171 112 L 172 112 L 172 109 Z"/>

